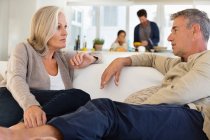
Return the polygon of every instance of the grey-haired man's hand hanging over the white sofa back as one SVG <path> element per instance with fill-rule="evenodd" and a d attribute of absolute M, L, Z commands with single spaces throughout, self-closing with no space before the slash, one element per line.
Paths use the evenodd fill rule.
<path fill-rule="evenodd" d="M 114 83 L 118 86 L 120 72 L 124 66 L 131 65 L 131 59 L 126 58 L 117 58 L 105 69 L 101 76 L 101 89 L 108 84 L 110 79 L 114 76 Z"/>

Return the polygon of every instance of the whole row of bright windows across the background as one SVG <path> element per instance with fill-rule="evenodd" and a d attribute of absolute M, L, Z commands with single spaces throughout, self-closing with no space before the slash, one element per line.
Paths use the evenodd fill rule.
<path fill-rule="evenodd" d="M 95 5 L 95 6 L 70 6 L 72 10 L 70 17 L 72 18 L 70 25 L 70 48 L 73 48 L 75 39 L 80 35 L 81 43 L 86 36 L 87 47 L 91 49 L 93 39 L 96 37 L 105 40 L 103 49 L 108 50 L 111 44 L 115 41 L 119 30 L 126 31 L 126 38 L 129 45 L 133 42 L 133 32 L 139 19 L 136 15 L 139 9 L 147 10 L 148 19 L 157 23 L 160 29 L 159 46 L 165 46 L 171 50 L 171 44 L 167 41 L 168 35 L 171 32 L 172 21 L 170 15 L 177 11 L 193 8 L 193 4 L 150 4 L 150 5 Z M 195 8 L 204 10 L 210 16 L 209 4 L 194 5 Z M 208 44 L 210 49 L 210 43 Z"/>

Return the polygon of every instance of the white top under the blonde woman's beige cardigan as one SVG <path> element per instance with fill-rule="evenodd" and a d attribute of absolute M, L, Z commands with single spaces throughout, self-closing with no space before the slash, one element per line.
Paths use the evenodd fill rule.
<path fill-rule="evenodd" d="M 65 89 L 63 80 L 61 78 L 60 69 L 58 67 L 58 73 L 56 76 L 50 76 L 50 90 L 62 90 Z"/>

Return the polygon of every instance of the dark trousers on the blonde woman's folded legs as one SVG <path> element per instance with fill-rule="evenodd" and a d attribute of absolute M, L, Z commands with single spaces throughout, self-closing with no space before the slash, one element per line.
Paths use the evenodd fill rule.
<path fill-rule="evenodd" d="M 90 100 L 90 95 L 79 89 L 31 90 L 50 120 L 77 110 Z M 7 88 L 0 88 L 0 126 L 9 127 L 23 118 L 23 110 Z"/>

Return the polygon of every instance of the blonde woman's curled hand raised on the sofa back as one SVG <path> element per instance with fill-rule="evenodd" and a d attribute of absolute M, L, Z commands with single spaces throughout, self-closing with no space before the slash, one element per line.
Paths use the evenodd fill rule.
<path fill-rule="evenodd" d="M 94 63 L 96 58 L 88 53 L 78 53 L 70 59 L 70 64 L 73 68 L 84 68 Z"/>

